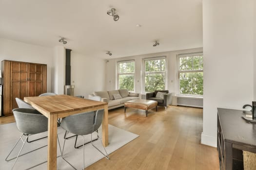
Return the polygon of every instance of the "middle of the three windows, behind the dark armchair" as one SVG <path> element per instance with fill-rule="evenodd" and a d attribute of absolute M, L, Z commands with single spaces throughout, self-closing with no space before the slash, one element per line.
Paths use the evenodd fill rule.
<path fill-rule="evenodd" d="M 166 87 L 166 57 L 144 59 L 144 93 L 164 90 Z"/>

